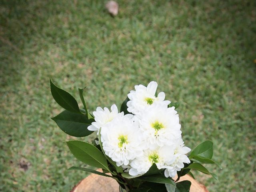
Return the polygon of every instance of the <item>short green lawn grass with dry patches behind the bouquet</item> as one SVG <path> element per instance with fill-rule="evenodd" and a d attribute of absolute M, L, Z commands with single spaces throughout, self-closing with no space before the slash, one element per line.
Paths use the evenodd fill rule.
<path fill-rule="evenodd" d="M 220 181 L 198 180 L 212 192 L 254 191 L 256 4 L 118 3 L 112 18 L 102 1 L 0 2 L 0 191 L 70 191 L 87 176 L 66 171 L 84 165 L 63 142 L 76 138 L 50 119 L 62 109 L 49 75 L 77 100 L 87 86 L 91 112 L 156 80 L 180 102 L 186 145 L 214 142 L 223 170 L 207 167 Z"/>

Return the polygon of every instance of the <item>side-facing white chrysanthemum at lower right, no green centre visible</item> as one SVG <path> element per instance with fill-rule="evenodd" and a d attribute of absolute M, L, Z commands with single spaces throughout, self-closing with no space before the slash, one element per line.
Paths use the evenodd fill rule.
<path fill-rule="evenodd" d="M 170 165 L 171 168 L 166 168 L 164 171 L 166 177 L 174 177 L 177 174 L 177 171 L 184 168 L 184 163 L 190 163 L 189 158 L 186 156 L 188 152 L 190 152 L 190 148 L 184 146 L 182 138 L 179 138 L 176 142 L 176 148 L 174 149 L 175 160 Z"/>

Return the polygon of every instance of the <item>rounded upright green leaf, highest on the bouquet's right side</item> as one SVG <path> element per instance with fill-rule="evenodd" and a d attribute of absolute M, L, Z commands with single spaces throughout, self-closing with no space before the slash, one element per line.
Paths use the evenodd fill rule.
<path fill-rule="evenodd" d="M 192 152 L 190 153 L 189 158 L 193 158 L 194 156 L 201 156 L 204 158 L 211 159 L 213 155 L 212 146 L 213 143 L 210 140 L 198 144 L 198 146 L 196 146 L 196 148 L 192 150 Z"/>

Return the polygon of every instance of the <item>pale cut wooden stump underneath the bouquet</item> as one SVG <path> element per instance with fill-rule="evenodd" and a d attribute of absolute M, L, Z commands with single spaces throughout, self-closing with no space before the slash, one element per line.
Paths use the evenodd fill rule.
<path fill-rule="evenodd" d="M 101 170 L 98 170 L 101 171 Z M 174 178 L 175 179 L 175 178 Z M 179 181 L 190 180 L 190 192 L 209 192 L 205 186 L 198 183 L 191 176 L 185 175 Z M 96 174 L 90 174 L 81 180 L 71 192 L 119 192 L 116 180 Z"/>

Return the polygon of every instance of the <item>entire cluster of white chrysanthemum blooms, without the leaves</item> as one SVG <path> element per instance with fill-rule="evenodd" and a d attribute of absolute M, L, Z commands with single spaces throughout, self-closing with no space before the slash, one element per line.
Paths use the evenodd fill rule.
<path fill-rule="evenodd" d="M 115 104 L 111 111 L 98 107 L 93 112 L 95 122 L 88 126 L 88 130 L 101 130 L 104 153 L 132 176 L 145 174 L 156 164 L 166 177 L 174 177 L 184 163 L 190 163 L 179 116 L 174 107 L 168 108 L 164 92 L 155 96 L 157 86 L 152 81 L 130 91 L 127 110 L 134 115 L 118 113 Z"/>

